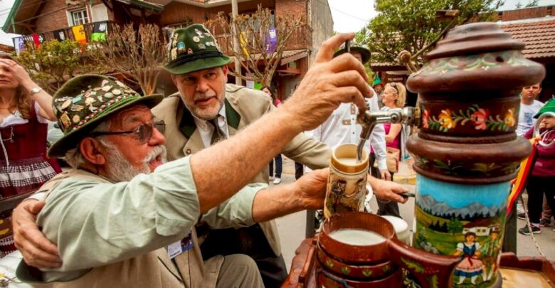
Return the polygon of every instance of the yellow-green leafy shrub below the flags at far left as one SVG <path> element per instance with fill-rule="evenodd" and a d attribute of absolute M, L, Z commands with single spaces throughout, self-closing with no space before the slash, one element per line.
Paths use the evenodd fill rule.
<path fill-rule="evenodd" d="M 46 41 L 38 47 L 30 43 L 16 60 L 38 85 L 52 93 L 78 71 L 90 68 L 83 63 L 84 48 L 75 41 Z"/>

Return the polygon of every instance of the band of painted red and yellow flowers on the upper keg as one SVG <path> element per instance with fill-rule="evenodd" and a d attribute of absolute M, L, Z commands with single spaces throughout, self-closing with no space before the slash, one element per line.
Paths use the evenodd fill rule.
<path fill-rule="evenodd" d="M 516 108 L 510 108 L 504 114 L 492 115 L 490 110 L 480 108 L 479 105 L 475 104 L 468 107 L 465 111 L 441 110 L 438 117 L 436 117 L 424 109 L 422 126 L 425 129 L 449 132 L 458 125 L 465 126 L 466 124 L 472 124 L 476 130 L 509 132 L 517 123 L 514 117 L 515 110 Z"/>

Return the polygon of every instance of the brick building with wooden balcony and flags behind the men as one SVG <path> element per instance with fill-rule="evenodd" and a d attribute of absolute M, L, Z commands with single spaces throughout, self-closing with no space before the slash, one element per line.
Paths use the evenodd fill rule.
<path fill-rule="evenodd" d="M 106 22 L 110 26 L 124 23 L 155 23 L 161 27 L 179 28 L 191 23 L 204 23 L 218 13 L 231 14 L 230 0 L 49 0 L 33 5 L 33 0 L 16 0 L 4 25 L 4 31 L 18 33 L 25 41 L 58 38 L 65 31 L 68 39 L 75 40 L 72 29 L 83 25 L 86 39 L 90 40 L 94 23 Z M 258 5 L 273 11 L 275 17 L 302 15 L 305 25 L 291 37 L 282 56 L 273 83 L 281 99 L 289 97 L 302 79 L 322 42 L 333 35 L 332 14 L 327 1 L 322 0 L 239 0 L 238 13 L 252 14 Z M 55 33 L 56 32 L 56 33 Z M 218 35 L 215 35 L 218 40 Z M 223 52 L 233 55 L 225 45 Z M 233 65 L 232 65 L 233 68 Z M 230 82 L 234 82 L 231 77 Z M 162 75 L 162 92 L 175 91 L 169 75 Z"/>

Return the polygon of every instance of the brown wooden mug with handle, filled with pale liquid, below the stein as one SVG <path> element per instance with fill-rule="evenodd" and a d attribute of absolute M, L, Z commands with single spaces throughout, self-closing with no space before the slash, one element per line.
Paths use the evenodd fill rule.
<path fill-rule="evenodd" d="M 337 213 L 324 221 L 316 249 L 318 287 L 401 287 L 402 270 L 422 287 L 450 287 L 459 257 L 433 255 L 396 238 L 378 215 Z"/>

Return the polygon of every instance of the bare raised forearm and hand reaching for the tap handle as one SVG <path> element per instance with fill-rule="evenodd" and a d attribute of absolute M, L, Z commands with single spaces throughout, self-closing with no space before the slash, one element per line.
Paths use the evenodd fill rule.
<path fill-rule="evenodd" d="M 316 128 L 342 102 L 354 102 L 360 109 L 366 107 L 364 97 L 370 97 L 371 91 L 364 66 L 347 53 L 333 58 L 334 50 L 353 37 L 338 34 L 324 42 L 307 75 L 281 107 L 234 137 L 191 156 L 201 212 L 231 197 L 293 137 Z M 234 181 L 221 181 L 222 178 Z"/>

